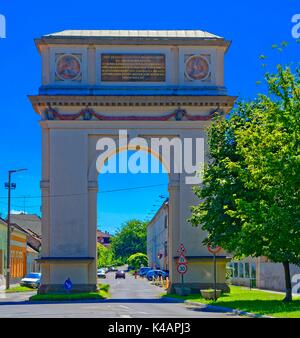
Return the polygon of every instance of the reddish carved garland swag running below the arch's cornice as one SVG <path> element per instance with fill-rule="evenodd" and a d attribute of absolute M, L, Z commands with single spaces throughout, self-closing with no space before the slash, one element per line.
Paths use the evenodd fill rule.
<path fill-rule="evenodd" d="M 188 121 L 208 121 L 213 115 L 218 112 L 213 111 L 207 116 L 200 115 L 190 115 L 184 109 L 177 109 L 173 113 L 163 115 L 163 116 L 107 116 L 96 113 L 92 109 L 83 109 L 77 114 L 60 114 L 57 110 L 49 107 L 45 111 L 45 118 L 47 120 L 60 120 L 60 121 L 74 121 L 80 117 L 83 120 L 90 121 L 94 117 L 99 121 L 169 121 L 175 119 L 176 121 L 182 121 L 183 118 L 186 118 Z"/>

